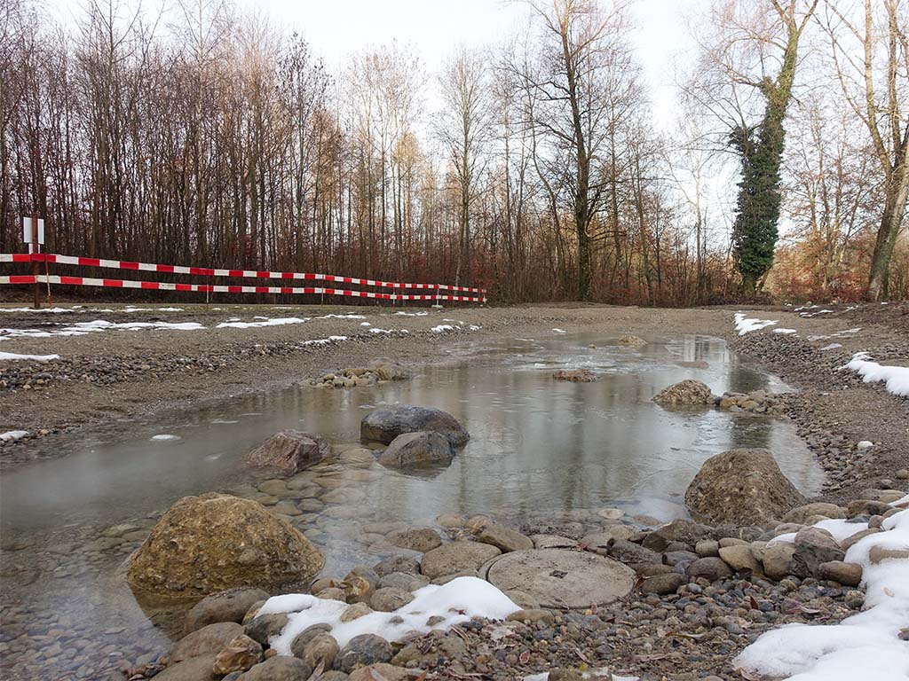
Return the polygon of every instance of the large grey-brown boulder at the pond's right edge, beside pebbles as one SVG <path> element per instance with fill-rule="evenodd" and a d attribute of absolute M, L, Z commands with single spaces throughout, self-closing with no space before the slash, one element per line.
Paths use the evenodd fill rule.
<path fill-rule="evenodd" d="M 704 461 L 684 503 L 699 522 L 767 525 L 802 506 L 804 497 L 766 449 L 730 449 Z"/>

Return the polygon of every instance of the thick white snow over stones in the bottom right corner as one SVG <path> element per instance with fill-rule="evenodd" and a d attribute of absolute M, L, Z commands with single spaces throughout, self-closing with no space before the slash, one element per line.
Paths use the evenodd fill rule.
<path fill-rule="evenodd" d="M 833 522 L 852 525 L 856 531 L 864 526 L 824 520 L 815 527 L 839 530 Z M 863 568 L 864 610 L 837 625 L 792 624 L 763 634 L 734 659 L 743 676 L 791 681 L 909 677 L 909 645 L 900 639 L 909 622 L 909 558 L 875 556 L 877 562 L 871 558 L 874 548 L 882 552 L 909 547 L 909 510 L 885 518 L 882 527 L 884 532 L 860 539 L 846 552 L 847 562 Z"/>

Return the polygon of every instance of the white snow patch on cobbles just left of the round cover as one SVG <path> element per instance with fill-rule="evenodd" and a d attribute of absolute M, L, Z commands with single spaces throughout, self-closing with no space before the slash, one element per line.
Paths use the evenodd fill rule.
<path fill-rule="evenodd" d="M 388 641 L 403 640 L 411 632 L 427 633 L 431 629 L 447 630 L 473 617 L 504 619 L 521 608 L 489 582 L 478 577 L 457 577 L 444 586 L 430 585 L 414 592 L 414 600 L 394 612 L 372 612 L 351 622 L 342 622 L 347 608 L 342 601 L 316 598 L 308 594 L 274 596 L 265 601 L 259 615 L 287 613 L 288 621 L 281 633 L 269 639 L 278 655 L 291 655 L 294 639 L 307 627 L 328 624 L 331 635 L 344 647 L 353 637 L 377 634 Z M 430 627 L 430 617 L 442 621 Z"/>

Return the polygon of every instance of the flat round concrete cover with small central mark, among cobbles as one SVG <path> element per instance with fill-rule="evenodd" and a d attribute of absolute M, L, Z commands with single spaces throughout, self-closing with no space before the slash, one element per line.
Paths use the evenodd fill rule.
<path fill-rule="evenodd" d="M 634 570 L 612 558 L 564 548 L 512 551 L 489 566 L 488 580 L 507 592 L 520 589 L 540 607 L 584 609 L 627 596 Z"/>

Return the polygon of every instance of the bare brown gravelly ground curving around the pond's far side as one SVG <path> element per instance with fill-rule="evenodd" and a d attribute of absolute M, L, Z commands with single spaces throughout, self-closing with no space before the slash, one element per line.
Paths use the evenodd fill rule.
<path fill-rule="evenodd" d="M 789 413 L 828 470 L 828 498 L 848 498 L 857 489 L 881 487 L 881 478 L 892 478 L 896 470 L 909 466 L 909 400 L 838 370 L 860 350 L 884 363 L 909 365 L 906 304 L 840 306 L 824 312 L 822 308 L 745 308 L 749 318 L 777 323 L 741 337 L 734 330 L 732 308 L 528 305 L 392 311 L 260 305 L 206 311 L 203 306 L 175 310 L 143 305 L 144 310 L 128 311 L 128 306 L 99 307 L 61 313 L 0 312 L 0 329 L 13 330 L 12 334 L 0 331 L 0 336 L 6 336 L 0 341 L 0 352 L 61 356 L 45 363 L 0 362 L 0 432 L 23 429 L 32 434 L 0 447 L 3 464 L 52 456 L 40 447 L 42 432 L 272 390 L 376 357 L 394 357 L 408 364 L 445 360 L 456 344 L 551 336 L 557 329 L 569 334 L 594 331 L 651 338 L 702 333 L 731 341 L 735 350 L 760 361 L 799 390 L 789 400 Z M 306 321 L 216 328 L 235 323 L 229 320 L 274 324 L 275 319 L 287 318 Z M 109 328 L 57 335 L 97 320 L 195 323 L 205 328 Z M 778 329 L 795 332 L 775 332 Z M 23 331 L 52 335 L 15 335 Z M 332 336 L 345 340 L 326 341 Z M 839 347 L 831 348 L 833 344 Z M 871 440 L 875 446 L 860 451 L 856 449 L 860 440 Z"/>

